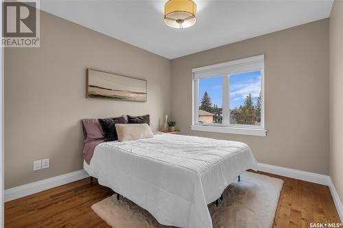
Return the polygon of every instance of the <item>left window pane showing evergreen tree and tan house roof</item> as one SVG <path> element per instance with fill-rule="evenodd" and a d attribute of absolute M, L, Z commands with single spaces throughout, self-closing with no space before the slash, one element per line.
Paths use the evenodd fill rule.
<path fill-rule="evenodd" d="M 199 79 L 199 123 L 222 123 L 222 100 L 222 77 Z"/>

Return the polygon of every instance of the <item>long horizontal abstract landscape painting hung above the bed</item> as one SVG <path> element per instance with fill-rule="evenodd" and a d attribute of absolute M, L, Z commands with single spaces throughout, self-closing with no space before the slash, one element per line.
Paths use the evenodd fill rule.
<path fill-rule="evenodd" d="M 145 102 L 147 81 L 88 68 L 87 97 Z"/>

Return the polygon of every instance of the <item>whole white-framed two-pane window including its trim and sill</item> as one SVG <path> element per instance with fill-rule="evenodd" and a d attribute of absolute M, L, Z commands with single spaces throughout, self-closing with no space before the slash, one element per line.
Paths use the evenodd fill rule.
<path fill-rule="evenodd" d="M 264 55 L 193 69 L 192 130 L 265 136 Z"/>

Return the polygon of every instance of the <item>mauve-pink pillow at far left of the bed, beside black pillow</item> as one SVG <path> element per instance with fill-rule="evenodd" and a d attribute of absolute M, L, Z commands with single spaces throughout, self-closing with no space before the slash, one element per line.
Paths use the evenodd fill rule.
<path fill-rule="evenodd" d="M 103 140 L 104 132 L 96 118 L 86 118 L 82 120 L 84 131 L 84 142 Z"/>

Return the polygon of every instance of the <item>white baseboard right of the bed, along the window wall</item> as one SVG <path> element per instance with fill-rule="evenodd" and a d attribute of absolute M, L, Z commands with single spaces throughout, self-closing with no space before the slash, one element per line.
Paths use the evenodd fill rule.
<path fill-rule="evenodd" d="M 259 171 L 265 173 L 272 173 L 284 177 L 291 177 L 294 179 L 300 179 L 302 181 L 309 181 L 312 183 L 319 183 L 324 186 L 329 186 L 330 177 L 318 173 L 310 173 L 303 170 L 296 170 L 292 168 L 285 168 L 281 166 L 272 166 L 270 164 L 258 163 L 257 168 Z"/>

